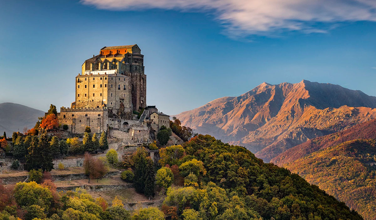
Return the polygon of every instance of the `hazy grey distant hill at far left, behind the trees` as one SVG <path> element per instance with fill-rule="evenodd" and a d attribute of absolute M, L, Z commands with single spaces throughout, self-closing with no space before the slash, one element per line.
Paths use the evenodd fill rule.
<path fill-rule="evenodd" d="M 6 132 L 12 136 L 13 132 L 23 131 L 24 127 L 35 126 L 38 117 L 44 116 L 44 111 L 30 108 L 24 105 L 5 102 L 0 104 L 0 135 Z"/>

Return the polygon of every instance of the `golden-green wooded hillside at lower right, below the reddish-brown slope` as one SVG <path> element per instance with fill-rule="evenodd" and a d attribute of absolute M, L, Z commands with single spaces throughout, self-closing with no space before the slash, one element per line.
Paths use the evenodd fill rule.
<path fill-rule="evenodd" d="M 286 165 L 311 184 L 345 202 L 365 220 L 376 219 L 376 139 L 357 139 Z"/>

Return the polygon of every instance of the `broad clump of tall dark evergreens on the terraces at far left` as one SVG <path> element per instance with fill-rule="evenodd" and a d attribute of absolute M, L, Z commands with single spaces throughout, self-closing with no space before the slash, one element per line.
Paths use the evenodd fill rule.
<path fill-rule="evenodd" d="M 46 134 L 39 137 L 38 144 L 32 140 L 29 147 L 29 154 L 26 156 L 27 169 L 42 169 L 51 171 L 53 168 L 52 151 Z"/>

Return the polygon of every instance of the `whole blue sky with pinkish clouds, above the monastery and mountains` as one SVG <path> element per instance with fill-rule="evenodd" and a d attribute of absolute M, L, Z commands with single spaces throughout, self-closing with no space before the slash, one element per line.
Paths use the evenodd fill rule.
<path fill-rule="evenodd" d="M 2 0 L 0 103 L 70 106 L 83 61 L 133 43 L 145 56 L 147 104 L 171 115 L 264 81 L 376 96 L 375 1 L 260 2 Z"/>

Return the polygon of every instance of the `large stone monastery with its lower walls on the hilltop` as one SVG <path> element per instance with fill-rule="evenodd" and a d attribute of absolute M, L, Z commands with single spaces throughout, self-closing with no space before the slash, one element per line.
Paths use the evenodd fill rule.
<path fill-rule="evenodd" d="M 115 130 L 129 142 L 146 142 L 170 116 L 146 105 L 144 55 L 138 45 L 105 46 L 82 64 L 76 76 L 76 97 L 70 108 L 62 107 L 59 123 L 73 134 Z M 125 137 L 125 138 L 124 138 Z"/>

